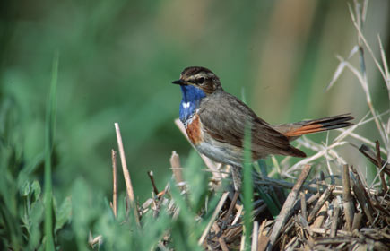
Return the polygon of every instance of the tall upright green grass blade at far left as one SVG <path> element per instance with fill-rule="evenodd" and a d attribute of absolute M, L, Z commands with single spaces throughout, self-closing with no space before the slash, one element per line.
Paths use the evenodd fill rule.
<path fill-rule="evenodd" d="M 53 189 L 51 180 L 51 153 L 53 151 L 53 137 L 56 123 L 56 82 L 58 75 L 58 52 L 53 59 L 50 94 L 45 126 L 45 237 L 46 250 L 55 250 L 53 241 Z"/>

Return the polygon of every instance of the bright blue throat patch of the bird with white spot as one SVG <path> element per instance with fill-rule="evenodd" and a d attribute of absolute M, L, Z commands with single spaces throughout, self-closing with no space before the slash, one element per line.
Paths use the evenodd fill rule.
<path fill-rule="evenodd" d="M 180 87 L 183 99 L 180 103 L 179 116 L 181 122 L 185 123 L 188 118 L 194 115 L 196 108 L 199 107 L 201 100 L 206 97 L 206 94 L 193 85 L 180 85 Z"/>

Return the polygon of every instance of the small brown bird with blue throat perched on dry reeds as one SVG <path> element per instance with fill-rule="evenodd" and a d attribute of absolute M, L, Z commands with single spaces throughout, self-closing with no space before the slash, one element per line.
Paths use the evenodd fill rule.
<path fill-rule="evenodd" d="M 353 125 L 351 114 L 270 125 L 244 102 L 224 91 L 220 78 L 202 66 L 186 67 L 180 78 L 172 83 L 178 84 L 182 92 L 179 119 L 186 128 L 189 141 L 211 160 L 231 167 L 235 195 L 230 203 L 230 213 L 242 186 L 240 173 L 248 123 L 254 161 L 268 155 L 304 158 L 305 152 L 292 146 L 291 141 L 304 134 Z"/>

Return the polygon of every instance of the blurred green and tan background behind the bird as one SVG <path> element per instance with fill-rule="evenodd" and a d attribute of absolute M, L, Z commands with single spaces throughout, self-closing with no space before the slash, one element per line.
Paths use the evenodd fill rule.
<path fill-rule="evenodd" d="M 376 56 L 377 34 L 390 51 L 389 5 L 369 2 L 363 31 Z M 51 65 L 59 51 L 57 198 L 69 195 L 80 177 L 111 196 L 114 122 L 121 126 L 134 194 L 141 202 L 150 196 L 147 170 L 165 186 L 171 151 L 186 159 L 191 149 L 173 124 L 181 93 L 170 84 L 186 66 L 212 69 L 226 91 L 245 96 L 270 123 L 345 112 L 360 119 L 368 112 L 348 71 L 325 91 L 339 63 L 335 55 L 347 57 L 356 44 L 348 1 L 24 0 L 2 1 L 0 13 L 0 99 L 13 114 L 1 123 L 12 123 L 18 154 L 23 164 L 38 164 L 39 181 L 37 156 L 44 150 Z M 366 59 L 374 106 L 386 111 L 386 86 Z M 373 128 L 359 132 L 377 139 Z M 362 160 L 349 155 L 351 164 Z"/>

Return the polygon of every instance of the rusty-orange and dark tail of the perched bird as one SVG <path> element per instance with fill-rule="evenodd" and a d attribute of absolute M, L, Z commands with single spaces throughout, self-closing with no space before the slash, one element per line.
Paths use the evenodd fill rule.
<path fill-rule="evenodd" d="M 348 113 L 333 117 L 305 120 L 291 124 L 275 125 L 273 128 L 284 134 L 290 139 L 290 141 L 292 141 L 304 134 L 314 134 L 353 125 L 349 122 L 352 119 L 353 117 L 351 116 L 351 113 Z"/>

